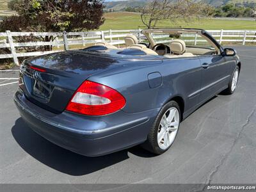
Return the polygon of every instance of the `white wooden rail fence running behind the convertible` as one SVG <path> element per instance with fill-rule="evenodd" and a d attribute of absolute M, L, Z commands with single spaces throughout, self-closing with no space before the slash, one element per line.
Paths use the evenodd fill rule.
<path fill-rule="evenodd" d="M 246 44 L 246 42 L 256 43 L 256 30 L 207 30 L 214 36 L 220 43 L 223 42 L 240 42 L 241 44 Z M 60 52 L 63 50 L 68 50 L 71 45 L 83 45 L 95 44 L 96 42 L 107 41 L 112 45 L 118 45 L 118 47 L 124 44 L 124 37 L 127 34 L 134 34 L 138 36 L 139 41 L 143 40 L 145 36 L 141 33 L 141 29 L 131 29 L 131 30 L 111 30 L 108 31 L 88 31 L 88 32 L 69 32 L 66 33 L 45 33 L 45 32 L 11 32 L 6 31 L 5 33 L 0 33 L 0 49 L 8 48 L 10 49 L 10 54 L 0 54 L 1 59 L 13 58 L 16 65 L 19 65 L 18 58 L 24 56 L 38 56 L 42 54 L 49 54 L 52 52 Z M 15 42 L 13 36 L 54 36 L 54 41 L 52 42 Z M 195 45 L 197 42 L 202 42 L 204 40 L 198 39 L 195 35 L 193 40 L 185 40 L 187 42 L 193 41 Z M 36 51 L 36 52 L 24 52 L 20 47 L 31 47 L 31 46 L 44 46 L 51 45 L 56 48 L 54 51 Z M 19 52 L 17 51 L 19 47 Z M 21 50 L 21 51 L 20 51 Z"/>

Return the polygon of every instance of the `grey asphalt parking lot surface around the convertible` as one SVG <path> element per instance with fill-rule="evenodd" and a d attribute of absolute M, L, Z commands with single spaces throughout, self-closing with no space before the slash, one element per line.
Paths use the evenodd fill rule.
<path fill-rule="evenodd" d="M 161 156 L 133 147 L 84 157 L 50 143 L 31 131 L 15 108 L 18 84 L 12 82 L 17 79 L 8 78 L 17 78 L 18 71 L 0 72 L 0 182 L 255 183 L 256 46 L 235 48 L 242 63 L 236 92 L 216 95 L 186 118 L 172 148 Z"/>

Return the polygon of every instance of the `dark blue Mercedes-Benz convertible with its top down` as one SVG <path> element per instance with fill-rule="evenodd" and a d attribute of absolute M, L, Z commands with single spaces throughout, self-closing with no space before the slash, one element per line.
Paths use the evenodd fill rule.
<path fill-rule="evenodd" d="M 141 144 L 171 147 L 180 122 L 220 92 L 234 93 L 241 63 L 202 29 L 145 29 L 25 60 L 15 104 L 45 139 L 84 156 Z"/>

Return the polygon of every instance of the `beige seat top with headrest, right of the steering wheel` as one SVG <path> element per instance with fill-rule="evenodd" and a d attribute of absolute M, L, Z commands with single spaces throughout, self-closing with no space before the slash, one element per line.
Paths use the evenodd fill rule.
<path fill-rule="evenodd" d="M 165 54 L 164 56 L 168 58 L 177 58 L 177 57 L 191 57 L 194 56 L 191 52 L 186 51 L 186 44 L 180 39 L 173 40 L 170 43 L 170 49 L 173 54 Z"/>

